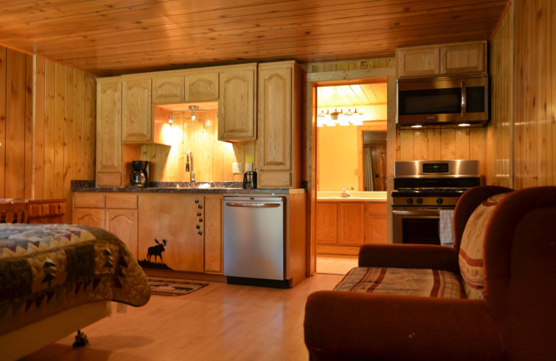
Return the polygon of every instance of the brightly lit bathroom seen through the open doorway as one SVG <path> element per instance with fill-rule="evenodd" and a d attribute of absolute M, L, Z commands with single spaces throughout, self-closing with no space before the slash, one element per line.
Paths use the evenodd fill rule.
<path fill-rule="evenodd" d="M 357 267 L 364 202 L 375 192 L 386 199 L 387 103 L 386 78 L 316 87 L 317 273 Z"/>

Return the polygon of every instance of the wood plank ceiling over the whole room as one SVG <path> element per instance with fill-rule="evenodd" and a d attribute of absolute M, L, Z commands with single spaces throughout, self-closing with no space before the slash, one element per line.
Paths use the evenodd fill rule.
<path fill-rule="evenodd" d="M 99 75 L 487 40 L 509 0 L 18 0 L 0 44 Z"/>

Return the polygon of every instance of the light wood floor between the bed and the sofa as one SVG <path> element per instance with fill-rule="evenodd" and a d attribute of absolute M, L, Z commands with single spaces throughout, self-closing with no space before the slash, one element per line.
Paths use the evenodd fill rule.
<path fill-rule="evenodd" d="M 293 289 L 210 282 L 185 296 L 152 296 L 85 328 L 90 344 L 81 349 L 72 349 L 70 335 L 22 360 L 306 361 L 306 297 L 339 280 L 316 274 Z"/>

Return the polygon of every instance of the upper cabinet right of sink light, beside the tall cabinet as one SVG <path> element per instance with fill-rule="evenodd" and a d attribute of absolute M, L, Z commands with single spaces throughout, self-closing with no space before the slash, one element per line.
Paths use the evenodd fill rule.
<path fill-rule="evenodd" d="M 255 140 L 256 64 L 220 72 L 218 140 Z"/>

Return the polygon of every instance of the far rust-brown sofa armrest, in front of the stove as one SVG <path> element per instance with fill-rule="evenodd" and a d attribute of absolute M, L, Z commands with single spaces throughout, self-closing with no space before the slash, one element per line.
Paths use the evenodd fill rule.
<path fill-rule="evenodd" d="M 430 244 L 363 244 L 359 267 L 441 269 L 459 274 L 458 251 Z"/>

